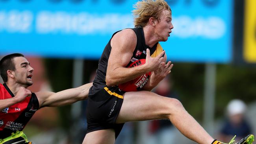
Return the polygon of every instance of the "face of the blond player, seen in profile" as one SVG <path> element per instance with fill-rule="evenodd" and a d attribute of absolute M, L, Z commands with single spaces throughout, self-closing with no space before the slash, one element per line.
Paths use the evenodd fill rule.
<path fill-rule="evenodd" d="M 161 12 L 160 20 L 156 22 L 156 34 L 159 41 L 167 41 L 172 29 L 172 15 L 168 10 L 164 10 Z"/>

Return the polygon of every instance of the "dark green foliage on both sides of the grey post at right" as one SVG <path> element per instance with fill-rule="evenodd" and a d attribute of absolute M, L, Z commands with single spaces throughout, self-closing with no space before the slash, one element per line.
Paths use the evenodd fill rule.
<path fill-rule="evenodd" d="M 205 65 L 174 63 L 174 90 L 186 110 L 197 120 L 202 119 Z M 247 104 L 256 100 L 256 67 L 217 65 L 215 117 L 223 116 L 227 103 L 239 98 Z"/>

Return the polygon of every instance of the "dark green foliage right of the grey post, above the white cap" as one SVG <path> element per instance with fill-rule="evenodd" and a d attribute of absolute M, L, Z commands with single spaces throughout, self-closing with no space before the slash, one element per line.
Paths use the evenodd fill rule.
<path fill-rule="evenodd" d="M 227 103 L 238 98 L 247 104 L 256 100 L 256 67 L 218 65 L 216 114 L 223 115 Z"/>

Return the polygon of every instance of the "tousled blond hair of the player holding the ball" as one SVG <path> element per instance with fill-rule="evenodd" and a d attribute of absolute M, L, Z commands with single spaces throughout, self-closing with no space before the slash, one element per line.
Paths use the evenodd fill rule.
<path fill-rule="evenodd" d="M 160 20 L 160 14 L 164 10 L 171 13 L 171 8 L 165 0 L 142 0 L 134 4 L 134 25 L 135 27 L 144 27 L 147 25 L 150 17 Z"/>

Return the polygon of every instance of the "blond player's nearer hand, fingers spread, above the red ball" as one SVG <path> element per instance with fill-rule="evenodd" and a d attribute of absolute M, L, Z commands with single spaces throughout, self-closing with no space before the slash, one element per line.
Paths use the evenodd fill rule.
<path fill-rule="evenodd" d="M 146 55 L 146 63 L 145 66 L 147 66 L 148 72 L 152 72 L 155 70 L 158 70 L 160 68 L 160 64 L 163 61 L 163 55 L 165 54 L 165 51 L 161 52 L 156 57 L 150 57 L 150 50 L 147 48 L 147 55 Z"/>

